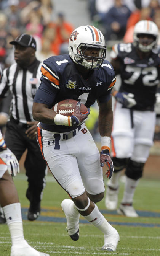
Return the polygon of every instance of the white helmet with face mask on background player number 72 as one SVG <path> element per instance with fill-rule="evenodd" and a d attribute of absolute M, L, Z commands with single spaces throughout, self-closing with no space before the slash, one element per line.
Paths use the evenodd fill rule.
<path fill-rule="evenodd" d="M 142 42 L 140 42 L 139 36 L 144 34 L 153 36 L 154 41 L 146 46 L 143 45 Z M 138 47 L 140 51 L 149 52 L 156 46 L 158 35 L 159 35 L 158 27 L 153 21 L 141 20 L 138 23 L 136 23 L 136 25 L 134 26 L 133 44 L 134 46 Z"/>

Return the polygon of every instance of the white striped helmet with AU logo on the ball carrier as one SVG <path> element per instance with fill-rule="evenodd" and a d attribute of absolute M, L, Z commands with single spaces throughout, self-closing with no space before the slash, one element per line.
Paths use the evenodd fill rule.
<path fill-rule="evenodd" d="M 99 69 L 106 58 L 104 36 L 99 29 L 87 25 L 76 28 L 69 39 L 69 55 L 72 60 L 88 69 Z M 99 56 L 85 55 L 89 47 L 99 51 Z M 82 52 L 83 51 L 83 52 Z"/>

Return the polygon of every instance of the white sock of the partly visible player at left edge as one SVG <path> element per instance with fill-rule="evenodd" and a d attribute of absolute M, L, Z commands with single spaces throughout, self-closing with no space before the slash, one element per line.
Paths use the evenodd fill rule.
<path fill-rule="evenodd" d="M 24 242 L 21 204 L 14 203 L 4 206 L 3 212 L 11 234 L 12 245 Z"/>

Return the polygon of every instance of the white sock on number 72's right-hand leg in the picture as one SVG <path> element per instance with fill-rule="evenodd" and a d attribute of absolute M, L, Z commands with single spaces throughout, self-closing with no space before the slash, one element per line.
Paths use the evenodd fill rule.
<path fill-rule="evenodd" d="M 122 204 L 125 204 L 125 203 L 130 204 L 133 202 L 134 192 L 136 190 L 138 182 L 139 182 L 139 179 L 135 181 L 134 179 L 130 179 L 126 177 L 125 191 L 123 194 Z"/>

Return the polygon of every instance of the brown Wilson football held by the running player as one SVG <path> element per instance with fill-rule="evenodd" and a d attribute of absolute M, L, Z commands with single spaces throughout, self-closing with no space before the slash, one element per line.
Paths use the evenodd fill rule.
<path fill-rule="evenodd" d="M 56 103 L 52 109 L 56 113 L 61 114 L 63 116 L 72 116 L 77 102 L 78 101 L 75 99 L 64 99 L 64 100 Z M 84 104 L 81 103 L 80 112 L 82 114 L 85 114 L 87 111 L 88 111 L 88 108 Z"/>

